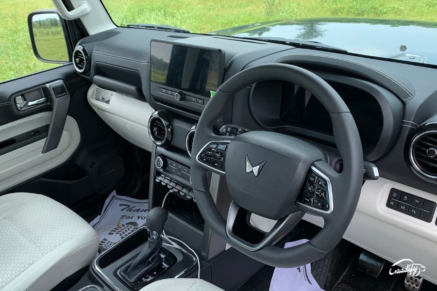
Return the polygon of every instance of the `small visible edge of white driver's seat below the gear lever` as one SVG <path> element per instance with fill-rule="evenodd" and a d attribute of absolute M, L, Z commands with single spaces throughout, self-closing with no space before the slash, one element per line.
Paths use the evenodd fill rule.
<path fill-rule="evenodd" d="M 147 285 L 140 291 L 223 291 L 202 279 L 165 279 Z"/>

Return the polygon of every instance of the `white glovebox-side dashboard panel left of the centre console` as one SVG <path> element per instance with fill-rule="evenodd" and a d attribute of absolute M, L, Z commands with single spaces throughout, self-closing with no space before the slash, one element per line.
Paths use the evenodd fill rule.
<path fill-rule="evenodd" d="M 95 84 L 89 88 L 87 99 L 94 111 L 119 135 L 135 146 L 151 151 L 147 126 L 154 110 L 147 102 L 101 89 Z"/>

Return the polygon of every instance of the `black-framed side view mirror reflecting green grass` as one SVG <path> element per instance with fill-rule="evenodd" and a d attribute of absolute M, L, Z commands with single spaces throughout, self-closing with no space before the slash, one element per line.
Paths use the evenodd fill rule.
<path fill-rule="evenodd" d="M 66 22 L 56 10 L 35 11 L 27 17 L 32 49 L 38 60 L 45 63 L 68 63 L 70 45 Z"/>

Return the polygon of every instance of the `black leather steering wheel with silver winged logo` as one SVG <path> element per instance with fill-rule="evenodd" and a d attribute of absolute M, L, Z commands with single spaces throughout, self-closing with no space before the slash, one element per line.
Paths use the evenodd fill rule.
<path fill-rule="evenodd" d="M 296 137 L 270 131 L 235 137 L 214 133 L 218 121 L 226 124 L 222 119 L 235 94 L 266 80 L 302 86 L 326 108 L 343 160 L 341 173 L 328 165 L 320 149 Z M 226 218 L 209 191 L 208 172 L 226 176 L 232 198 Z M 351 222 L 363 182 L 358 129 L 341 97 L 317 75 L 286 64 L 253 66 L 225 81 L 206 105 L 194 135 L 191 181 L 205 223 L 228 244 L 271 266 L 302 266 L 331 251 Z M 276 247 L 305 212 L 323 217 L 319 233 L 301 245 Z M 248 223 L 251 213 L 277 223 L 269 233 L 253 232 Z M 249 239 L 244 237 L 247 234 L 252 234 Z"/>

